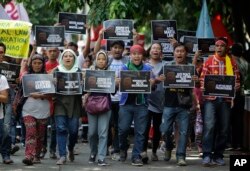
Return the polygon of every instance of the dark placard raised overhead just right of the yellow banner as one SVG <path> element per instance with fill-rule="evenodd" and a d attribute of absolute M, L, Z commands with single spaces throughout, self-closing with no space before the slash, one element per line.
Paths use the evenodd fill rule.
<path fill-rule="evenodd" d="M 64 26 L 36 26 L 36 45 L 41 47 L 64 47 Z"/>

